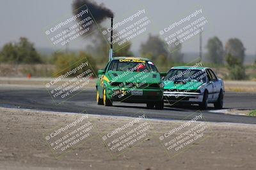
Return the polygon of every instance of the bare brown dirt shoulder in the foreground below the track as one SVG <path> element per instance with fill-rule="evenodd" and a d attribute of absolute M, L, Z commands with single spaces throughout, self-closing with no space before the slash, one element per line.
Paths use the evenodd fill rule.
<path fill-rule="evenodd" d="M 0 169 L 255 169 L 256 166 L 256 125 L 207 123 L 202 140 L 187 143 L 180 152 L 168 152 L 159 136 L 186 122 L 147 119 L 150 125 L 147 136 L 125 148 L 124 153 L 116 154 L 109 152 L 102 136 L 135 118 L 11 108 L 0 108 L 0 113 Z M 85 116 L 93 124 L 92 138 L 68 153 L 61 153 L 57 159 L 58 154 L 52 152 L 45 136 Z M 191 123 L 199 124 L 202 122 Z"/>

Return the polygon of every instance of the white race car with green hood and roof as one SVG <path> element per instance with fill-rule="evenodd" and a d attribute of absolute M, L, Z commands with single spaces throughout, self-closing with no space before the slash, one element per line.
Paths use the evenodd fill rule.
<path fill-rule="evenodd" d="M 199 104 L 202 109 L 213 103 L 221 109 L 224 94 L 223 80 L 209 67 L 172 67 L 164 77 L 164 101 L 168 103 Z"/>

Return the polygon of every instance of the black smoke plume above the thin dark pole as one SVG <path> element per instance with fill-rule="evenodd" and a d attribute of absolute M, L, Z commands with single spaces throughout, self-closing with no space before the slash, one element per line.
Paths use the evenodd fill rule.
<path fill-rule="evenodd" d="M 85 4 L 98 24 L 100 24 L 100 22 L 102 22 L 106 18 L 114 17 L 113 11 L 106 8 L 104 4 L 97 4 L 95 1 L 92 0 L 75 0 L 72 4 L 73 10 L 76 10 L 74 11 L 74 14 L 76 15 L 81 10 L 85 10 Z M 79 9 L 77 10 L 77 8 Z M 84 18 L 82 17 L 80 19 L 83 20 Z"/>

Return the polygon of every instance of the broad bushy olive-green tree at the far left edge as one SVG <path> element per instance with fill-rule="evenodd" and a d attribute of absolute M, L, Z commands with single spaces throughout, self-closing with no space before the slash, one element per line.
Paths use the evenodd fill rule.
<path fill-rule="evenodd" d="M 1 62 L 40 63 L 42 59 L 34 44 L 28 38 L 20 38 L 18 43 L 7 43 L 0 52 Z"/>

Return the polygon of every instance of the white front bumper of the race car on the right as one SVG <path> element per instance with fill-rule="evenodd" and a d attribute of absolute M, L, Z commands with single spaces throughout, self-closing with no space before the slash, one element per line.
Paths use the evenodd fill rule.
<path fill-rule="evenodd" d="M 203 94 L 198 92 L 168 92 L 164 91 L 164 101 L 168 103 L 202 103 Z"/>

